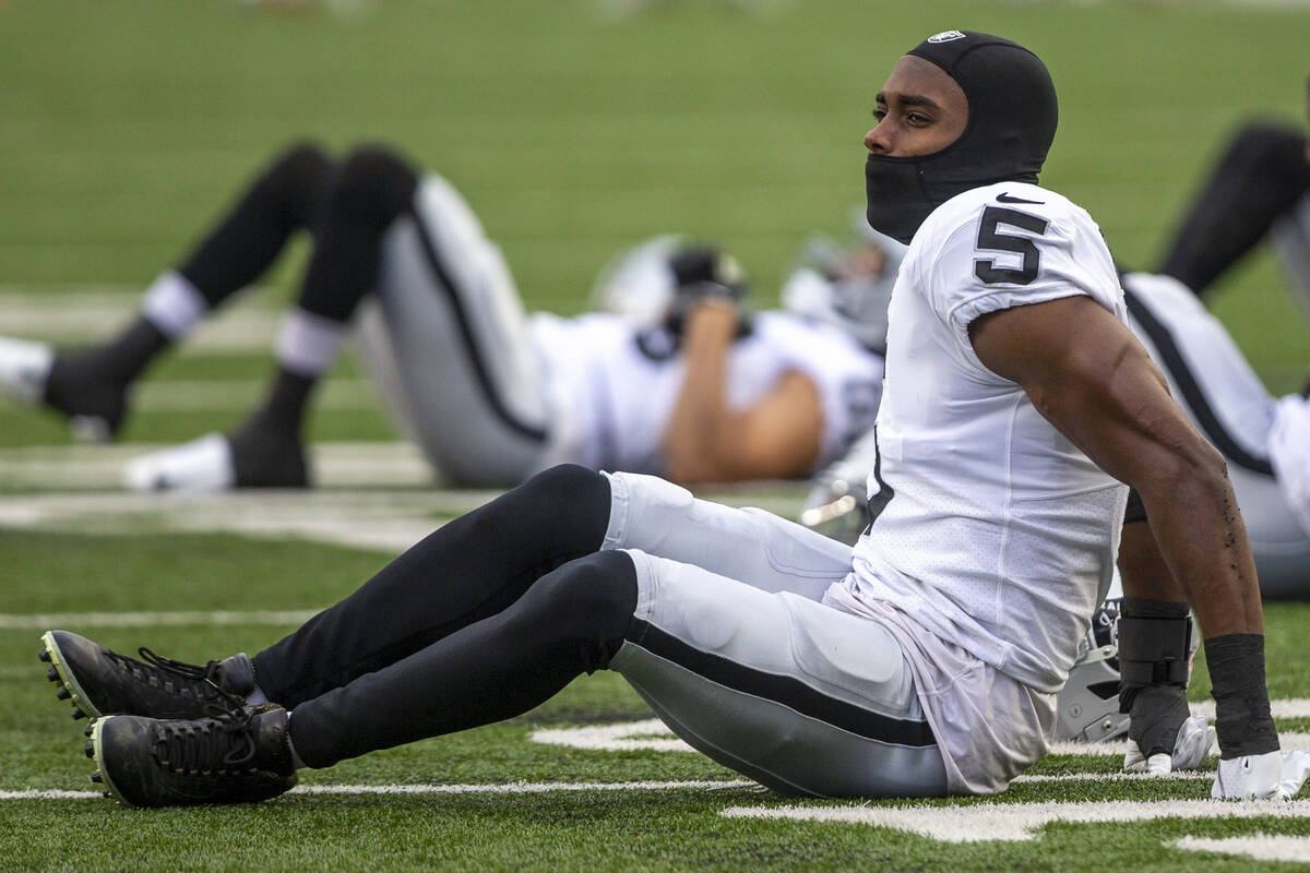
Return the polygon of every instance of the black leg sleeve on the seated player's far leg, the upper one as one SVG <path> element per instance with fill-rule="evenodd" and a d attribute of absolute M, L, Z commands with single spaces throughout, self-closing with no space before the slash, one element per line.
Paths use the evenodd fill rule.
<path fill-rule="evenodd" d="M 553 467 L 447 524 L 359 590 L 254 657 L 288 708 L 500 613 L 541 576 L 600 548 L 609 480 Z"/>

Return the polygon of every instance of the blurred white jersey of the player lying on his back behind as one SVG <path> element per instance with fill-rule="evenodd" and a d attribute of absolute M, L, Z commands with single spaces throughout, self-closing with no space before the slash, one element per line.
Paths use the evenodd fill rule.
<path fill-rule="evenodd" d="M 537 314 L 529 330 L 546 368 L 554 407 L 552 461 L 596 470 L 660 474 L 664 428 L 683 385 L 681 356 L 667 335 L 642 331 L 621 315 Z M 799 315 L 764 312 L 732 346 L 728 404 L 744 408 L 772 391 L 787 370 L 815 383 L 823 408 L 816 467 L 838 457 L 874 421 L 883 359 L 844 331 Z"/>

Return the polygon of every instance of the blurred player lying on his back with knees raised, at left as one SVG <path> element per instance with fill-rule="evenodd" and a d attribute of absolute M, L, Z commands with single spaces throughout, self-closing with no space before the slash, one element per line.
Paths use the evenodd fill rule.
<path fill-rule="evenodd" d="M 751 315 L 731 258 L 669 237 L 600 281 L 603 305 L 639 300 L 639 315 L 528 319 L 499 249 L 448 182 L 385 148 L 335 161 L 313 145 L 274 160 L 118 336 L 76 355 L 0 340 L 0 385 L 75 433 L 111 437 L 149 363 L 297 230 L 314 245 L 263 403 L 225 436 L 138 458 L 132 487 L 309 484 L 310 393 L 365 298 L 364 360 L 400 429 L 451 484 L 508 486 L 565 461 L 683 483 L 804 476 L 878 407 L 882 349 L 854 338 L 849 315 L 815 317 L 827 310 L 814 294 L 804 315 Z"/>

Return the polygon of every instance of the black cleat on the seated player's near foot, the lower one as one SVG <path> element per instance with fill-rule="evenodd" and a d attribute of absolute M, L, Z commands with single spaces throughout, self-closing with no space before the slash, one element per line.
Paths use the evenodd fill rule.
<path fill-rule="evenodd" d="M 92 732 L 92 781 L 124 806 L 276 797 L 296 784 L 287 724 L 287 711 L 275 704 L 196 720 L 100 719 Z"/>

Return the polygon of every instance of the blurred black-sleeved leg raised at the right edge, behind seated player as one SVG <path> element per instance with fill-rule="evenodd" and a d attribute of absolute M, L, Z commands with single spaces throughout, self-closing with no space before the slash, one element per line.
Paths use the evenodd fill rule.
<path fill-rule="evenodd" d="M 1307 190 L 1310 164 L 1300 131 L 1243 128 L 1196 198 L 1159 271 L 1200 294 Z"/>

